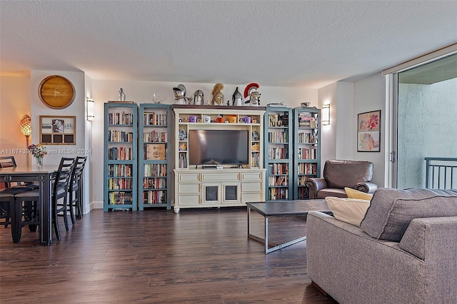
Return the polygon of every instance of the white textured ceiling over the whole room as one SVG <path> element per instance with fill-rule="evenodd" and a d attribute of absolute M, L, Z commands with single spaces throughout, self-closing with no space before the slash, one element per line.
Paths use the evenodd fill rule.
<path fill-rule="evenodd" d="M 0 69 L 320 88 L 457 42 L 457 1 L 0 1 Z"/>

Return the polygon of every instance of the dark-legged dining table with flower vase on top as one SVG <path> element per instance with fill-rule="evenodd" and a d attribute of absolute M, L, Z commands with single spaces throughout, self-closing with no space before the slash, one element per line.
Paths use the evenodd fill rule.
<path fill-rule="evenodd" d="M 36 166 L 17 166 L 0 168 L 0 183 L 36 183 L 39 189 L 39 244 L 52 243 L 51 197 L 52 179 L 59 170 L 59 164 L 47 165 L 42 168 Z M 19 211 L 18 211 L 19 210 Z M 14 243 L 21 238 L 20 219 L 21 208 L 10 208 L 11 236 Z"/>

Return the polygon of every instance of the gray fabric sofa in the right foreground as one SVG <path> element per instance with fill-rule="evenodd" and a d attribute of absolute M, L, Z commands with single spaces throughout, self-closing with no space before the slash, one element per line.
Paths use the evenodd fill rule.
<path fill-rule="evenodd" d="M 381 188 L 360 227 L 306 226 L 308 276 L 338 303 L 457 303 L 457 191 Z"/>

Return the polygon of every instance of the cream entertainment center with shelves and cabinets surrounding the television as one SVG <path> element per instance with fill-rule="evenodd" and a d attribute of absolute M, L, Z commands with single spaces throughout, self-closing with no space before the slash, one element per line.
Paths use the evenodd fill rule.
<path fill-rule="evenodd" d="M 265 200 L 263 168 L 263 107 L 173 106 L 175 130 L 174 211 L 181 208 L 246 206 L 247 201 Z M 196 118 L 191 116 L 196 116 Z M 204 122 L 206 117 L 211 122 Z M 221 122 L 217 118 L 222 118 Z M 251 118 L 251 122 L 246 120 Z M 192 122 L 191 122 L 192 120 Z M 194 122 L 196 120 L 196 122 Z M 206 118 L 206 121 L 208 118 Z M 231 121 L 231 122 L 229 122 Z M 189 166 L 189 143 L 182 134 L 189 130 L 248 130 L 251 159 L 244 168 Z M 181 137 L 180 134 L 181 133 Z M 256 133 L 257 136 L 254 136 Z M 221 138 L 224 140 L 224 138 Z"/>

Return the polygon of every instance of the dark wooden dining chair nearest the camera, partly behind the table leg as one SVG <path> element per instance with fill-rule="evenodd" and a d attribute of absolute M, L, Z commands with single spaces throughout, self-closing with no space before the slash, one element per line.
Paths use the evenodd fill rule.
<path fill-rule="evenodd" d="M 76 163 L 76 158 L 61 158 L 59 169 L 57 170 L 56 177 L 52 185 L 51 208 L 52 208 L 52 222 L 57 240 L 60 240 L 59 221 L 57 216 L 59 213 L 64 216 L 64 223 L 66 231 L 69 231 L 69 224 L 67 218 L 67 203 L 69 195 L 69 183 L 71 180 L 71 173 Z M 29 226 L 33 230 L 39 225 L 39 190 L 29 190 L 16 194 L 14 204 L 15 210 L 23 210 L 22 217 L 24 221 L 20 221 L 19 230 L 24 226 Z M 19 208 L 19 204 L 21 208 Z M 20 239 L 20 235 L 19 235 Z M 18 240 L 19 241 L 19 240 Z"/>

